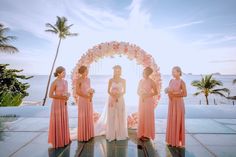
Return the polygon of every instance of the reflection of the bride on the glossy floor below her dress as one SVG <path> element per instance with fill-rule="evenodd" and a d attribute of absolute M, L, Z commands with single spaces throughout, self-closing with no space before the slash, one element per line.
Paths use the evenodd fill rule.
<path fill-rule="evenodd" d="M 127 157 L 128 140 L 106 142 L 107 157 Z"/>

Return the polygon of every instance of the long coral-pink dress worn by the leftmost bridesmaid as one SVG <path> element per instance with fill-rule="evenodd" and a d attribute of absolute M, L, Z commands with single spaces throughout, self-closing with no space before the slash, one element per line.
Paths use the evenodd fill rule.
<path fill-rule="evenodd" d="M 56 95 L 68 92 L 68 84 L 65 80 L 56 82 Z M 62 99 L 53 99 L 51 105 L 48 143 L 53 148 L 64 147 L 70 143 L 69 120 L 67 102 Z"/>

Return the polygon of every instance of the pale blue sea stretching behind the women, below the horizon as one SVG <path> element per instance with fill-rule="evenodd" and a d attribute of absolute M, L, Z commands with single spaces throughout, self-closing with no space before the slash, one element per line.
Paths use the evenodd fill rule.
<path fill-rule="evenodd" d="M 95 89 L 96 93 L 94 95 L 94 106 L 95 108 L 100 108 L 107 101 L 107 83 L 111 76 L 104 75 L 92 75 L 90 76 L 92 87 Z M 231 95 L 236 95 L 236 84 L 233 85 L 232 81 L 236 78 L 235 75 L 215 75 L 216 79 L 223 82 L 224 87 L 231 90 Z M 195 87 L 191 86 L 193 80 L 200 79 L 200 75 L 184 75 L 183 80 L 186 82 L 188 96 L 185 98 L 185 104 L 197 105 L 205 104 L 205 98 L 203 96 L 193 96 L 193 93 L 196 91 Z M 46 89 L 48 76 L 46 75 L 36 75 L 32 79 L 28 80 L 30 88 L 28 89 L 29 96 L 26 97 L 25 101 L 42 101 Z M 54 79 L 54 78 L 52 78 Z M 69 83 L 69 90 L 71 91 L 71 78 L 67 76 L 67 81 Z M 127 106 L 137 107 L 138 97 L 137 97 L 137 85 L 140 78 L 125 78 L 127 82 L 127 93 L 125 95 L 125 101 Z M 166 105 L 168 102 L 167 96 L 164 94 L 163 89 L 167 87 L 169 80 L 171 79 L 170 75 L 162 76 L 162 91 L 161 91 L 161 100 L 159 105 Z M 214 99 L 216 104 L 232 104 L 232 100 L 227 100 L 219 96 L 209 96 L 210 104 L 214 104 Z M 69 103 L 74 102 L 73 97 L 70 98 Z M 236 103 L 236 102 L 235 102 Z M 47 99 L 47 104 L 50 104 L 50 99 Z"/>

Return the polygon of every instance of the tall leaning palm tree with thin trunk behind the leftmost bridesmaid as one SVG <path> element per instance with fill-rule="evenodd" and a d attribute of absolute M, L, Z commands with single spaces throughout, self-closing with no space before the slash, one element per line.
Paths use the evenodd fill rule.
<path fill-rule="evenodd" d="M 43 99 L 43 106 L 45 105 L 45 102 L 46 102 L 46 99 L 47 99 L 48 88 L 49 88 L 52 72 L 53 72 L 53 69 L 54 69 L 54 66 L 55 66 L 55 62 L 57 60 L 59 48 L 60 48 L 60 45 L 61 45 L 61 40 L 65 39 L 66 37 L 69 37 L 69 36 L 77 36 L 78 35 L 77 33 L 71 33 L 70 32 L 71 26 L 73 26 L 73 24 L 67 25 L 67 19 L 65 17 L 59 17 L 59 16 L 57 16 L 57 21 L 54 25 L 52 25 L 50 23 L 46 23 L 46 27 L 48 29 L 46 29 L 45 31 L 58 35 L 59 42 L 58 42 L 58 46 L 57 46 L 56 55 L 55 55 L 55 58 L 54 58 L 54 61 L 53 61 L 53 64 L 52 64 L 51 72 L 50 72 L 50 75 L 49 75 L 49 78 L 48 78 L 48 84 L 47 84 L 47 88 L 46 88 L 46 92 L 45 92 L 45 97 Z"/>

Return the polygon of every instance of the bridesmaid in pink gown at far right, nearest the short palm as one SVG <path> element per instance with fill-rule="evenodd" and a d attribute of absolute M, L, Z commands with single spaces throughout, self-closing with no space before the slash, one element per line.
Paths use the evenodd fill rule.
<path fill-rule="evenodd" d="M 185 109 L 183 97 L 187 96 L 185 82 L 181 79 L 182 71 L 173 67 L 169 87 L 165 92 L 169 96 L 169 109 L 166 129 L 166 143 L 174 147 L 185 146 Z"/>

